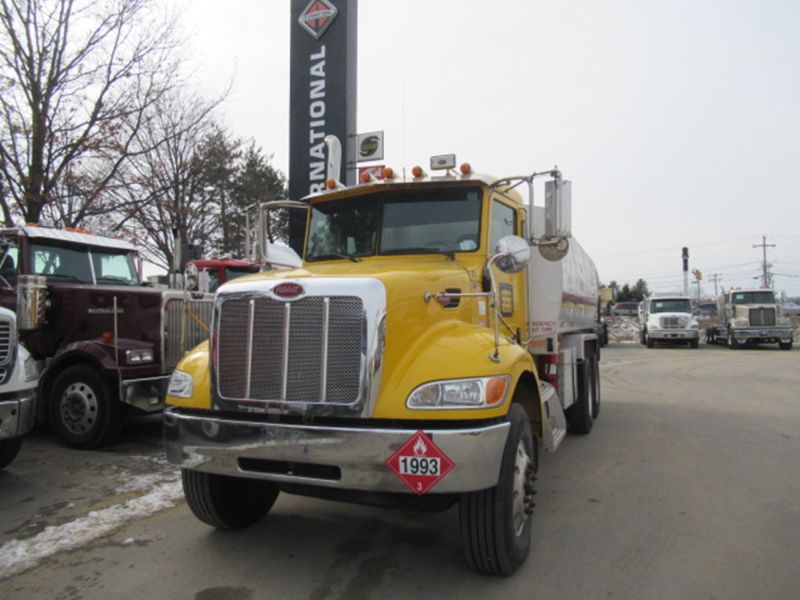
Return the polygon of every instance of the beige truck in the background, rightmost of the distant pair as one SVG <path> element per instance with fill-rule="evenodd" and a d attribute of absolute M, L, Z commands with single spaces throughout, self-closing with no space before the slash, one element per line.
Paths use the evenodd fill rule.
<path fill-rule="evenodd" d="M 719 324 L 706 329 L 706 341 L 731 350 L 745 344 L 778 344 L 791 350 L 792 322 L 781 312 L 770 289 L 731 289 L 719 297 Z"/>

